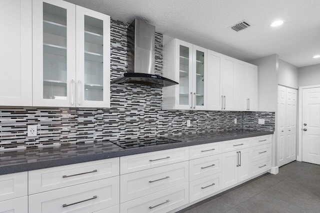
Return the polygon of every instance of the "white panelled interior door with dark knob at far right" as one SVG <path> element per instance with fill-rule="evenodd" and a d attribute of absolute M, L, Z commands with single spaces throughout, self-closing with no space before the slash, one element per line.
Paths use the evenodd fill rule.
<path fill-rule="evenodd" d="M 302 91 L 302 161 L 320 164 L 320 87 Z"/>

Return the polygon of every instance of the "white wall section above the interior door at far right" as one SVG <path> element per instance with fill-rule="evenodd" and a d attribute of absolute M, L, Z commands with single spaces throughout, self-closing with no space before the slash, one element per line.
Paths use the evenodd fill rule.
<path fill-rule="evenodd" d="M 311 86 L 320 84 L 320 64 L 299 68 L 299 86 Z"/>

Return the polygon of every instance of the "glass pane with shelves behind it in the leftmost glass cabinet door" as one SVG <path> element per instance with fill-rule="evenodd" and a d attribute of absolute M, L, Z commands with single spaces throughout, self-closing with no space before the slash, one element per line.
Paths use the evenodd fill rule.
<path fill-rule="evenodd" d="M 66 99 L 66 9 L 43 2 L 43 98 Z"/>

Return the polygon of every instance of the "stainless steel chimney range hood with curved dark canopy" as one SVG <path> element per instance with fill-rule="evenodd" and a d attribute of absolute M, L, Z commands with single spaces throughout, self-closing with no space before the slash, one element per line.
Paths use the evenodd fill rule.
<path fill-rule="evenodd" d="M 162 88 L 178 84 L 154 74 L 154 26 L 134 19 L 127 28 L 128 72 L 111 83 L 136 83 Z"/>

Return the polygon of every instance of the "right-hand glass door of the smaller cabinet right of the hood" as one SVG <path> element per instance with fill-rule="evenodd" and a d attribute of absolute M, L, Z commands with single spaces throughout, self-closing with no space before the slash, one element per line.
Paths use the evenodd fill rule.
<path fill-rule="evenodd" d="M 195 109 L 205 109 L 206 49 L 193 45 L 193 98 Z"/>

